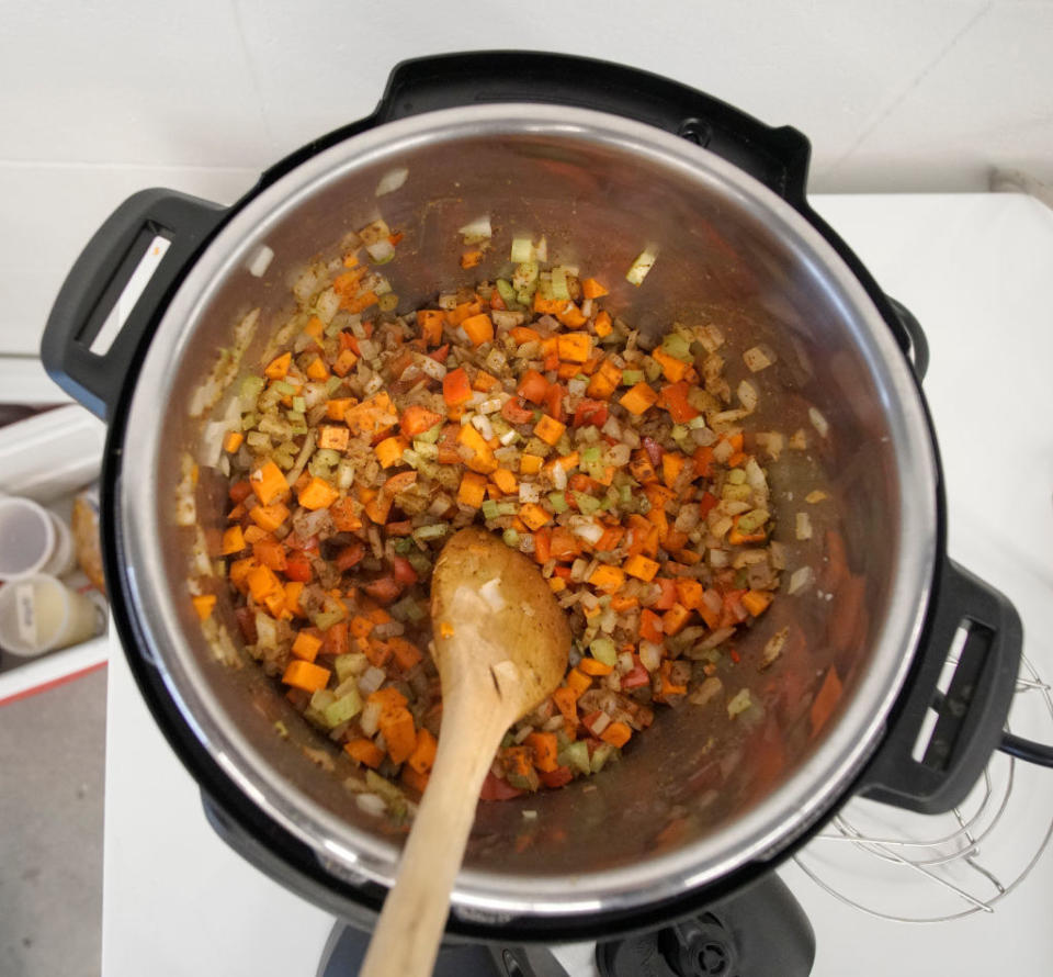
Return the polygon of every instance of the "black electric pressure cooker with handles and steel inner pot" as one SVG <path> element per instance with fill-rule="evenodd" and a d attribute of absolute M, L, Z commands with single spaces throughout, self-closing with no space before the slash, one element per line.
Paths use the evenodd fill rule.
<path fill-rule="evenodd" d="M 750 749 L 714 753 L 691 706 L 663 710 L 600 776 L 480 805 L 451 939 L 652 930 L 760 891 L 748 886 L 772 878 L 852 796 L 918 811 L 965 797 L 1001 737 L 1021 626 L 947 557 L 919 385 L 924 334 L 808 205 L 808 154 L 796 130 L 654 75 L 543 54 L 449 55 L 398 65 L 372 115 L 276 164 L 233 206 L 146 190 L 99 229 L 63 285 L 42 357 L 109 424 L 102 523 L 116 627 L 210 818 L 246 857 L 367 929 L 404 836 L 312 762 L 305 751 L 324 743 L 236 638 L 217 655 L 188 592 L 195 541 L 214 544 L 225 519 L 205 433 L 258 369 L 305 265 L 378 216 L 405 234 L 385 269 L 399 312 L 497 277 L 513 234 L 544 234 L 551 258 L 618 278 L 607 306 L 644 338 L 673 321 L 718 323 L 729 369 L 735 350 L 766 344 L 777 362 L 756 377 L 751 424 L 803 429 L 808 442 L 765 460 L 775 538 L 813 583 L 780 596 L 743 644 L 743 684 L 763 686 L 768 703 Z M 464 272 L 456 232 L 482 214 L 495 247 Z M 104 328 L 158 244 L 163 257 L 134 307 L 120 329 Z M 646 246 L 658 259 L 634 288 L 621 277 Z M 201 462 L 194 526 L 173 517 L 186 458 Z M 815 484 L 829 495 L 827 515 L 813 514 L 812 539 L 796 540 L 794 517 Z M 849 569 L 840 576 L 828 572 L 831 534 Z M 237 636 L 217 593 L 217 620 Z M 793 653 L 763 674 L 750 669 L 788 621 L 803 636 Z M 843 693 L 814 730 L 818 650 L 837 663 Z M 287 740 L 274 734 L 279 719 Z M 773 770 L 765 757 L 775 749 Z M 337 774 L 352 770 L 336 751 L 333 762 L 348 764 Z M 526 808 L 537 830 L 520 846 Z"/>

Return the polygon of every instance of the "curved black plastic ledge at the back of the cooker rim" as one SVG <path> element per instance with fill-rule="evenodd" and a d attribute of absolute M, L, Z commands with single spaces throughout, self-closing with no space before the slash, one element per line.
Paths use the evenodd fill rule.
<path fill-rule="evenodd" d="M 487 102 L 555 102 L 623 115 L 681 136 L 791 202 L 804 200 L 811 146 L 725 102 L 636 68 L 541 52 L 414 58 L 392 71 L 376 122 Z"/>

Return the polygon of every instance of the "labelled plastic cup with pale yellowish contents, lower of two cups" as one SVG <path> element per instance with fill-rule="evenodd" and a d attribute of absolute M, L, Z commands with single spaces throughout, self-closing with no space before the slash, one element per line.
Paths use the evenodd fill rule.
<path fill-rule="evenodd" d="M 101 635 L 101 610 L 89 597 L 43 573 L 0 586 L 0 648 L 31 656 Z"/>

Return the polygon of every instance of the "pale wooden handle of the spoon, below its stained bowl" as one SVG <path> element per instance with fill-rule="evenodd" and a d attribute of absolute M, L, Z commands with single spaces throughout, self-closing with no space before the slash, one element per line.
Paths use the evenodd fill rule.
<path fill-rule="evenodd" d="M 472 697 L 465 697 L 472 698 Z M 483 781 L 509 719 L 489 697 L 446 701 L 428 789 L 360 977 L 429 977 Z"/>

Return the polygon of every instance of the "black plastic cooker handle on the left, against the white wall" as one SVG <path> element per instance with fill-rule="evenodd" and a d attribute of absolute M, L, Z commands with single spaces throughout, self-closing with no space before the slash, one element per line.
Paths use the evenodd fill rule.
<path fill-rule="evenodd" d="M 143 190 L 110 215 L 73 262 L 47 317 L 41 360 L 103 420 L 159 310 L 224 214 L 218 204 L 173 190 Z"/>

